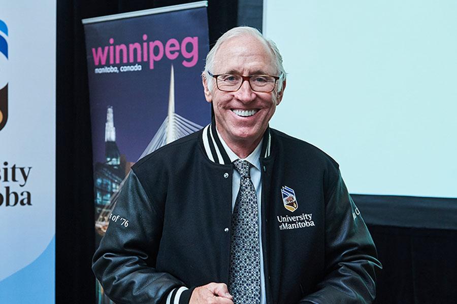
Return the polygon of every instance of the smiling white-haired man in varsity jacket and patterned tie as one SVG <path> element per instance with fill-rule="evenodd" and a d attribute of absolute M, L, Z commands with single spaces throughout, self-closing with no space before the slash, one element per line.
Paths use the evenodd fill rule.
<path fill-rule="evenodd" d="M 269 128 L 286 74 L 257 30 L 223 34 L 203 72 L 213 122 L 135 166 L 94 255 L 122 303 L 370 303 L 381 265 L 338 164 Z"/>

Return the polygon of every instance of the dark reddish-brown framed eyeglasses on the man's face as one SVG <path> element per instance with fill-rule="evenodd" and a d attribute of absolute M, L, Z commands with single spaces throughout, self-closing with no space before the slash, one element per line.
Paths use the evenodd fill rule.
<path fill-rule="evenodd" d="M 243 76 L 238 74 L 218 74 L 213 75 L 210 71 L 208 74 L 216 79 L 216 86 L 223 92 L 236 92 L 246 80 L 252 91 L 270 93 L 275 89 L 276 81 L 279 76 L 271 75 L 249 75 Z"/>

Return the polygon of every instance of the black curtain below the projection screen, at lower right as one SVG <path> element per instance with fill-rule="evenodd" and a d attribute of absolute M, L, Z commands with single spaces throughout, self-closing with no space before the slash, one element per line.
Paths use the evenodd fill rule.
<path fill-rule="evenodd" d="M 457 303 L 457 230 L 368 225 L 382 271 L 376 304 Z"/>

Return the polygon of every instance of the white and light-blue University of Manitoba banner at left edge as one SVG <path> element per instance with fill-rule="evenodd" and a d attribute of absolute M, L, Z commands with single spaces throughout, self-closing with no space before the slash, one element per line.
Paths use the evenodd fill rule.
<path fill-rule="evenodd" d="M 0 8 L 0 303 L 54 303 L 56 1 Z"/>

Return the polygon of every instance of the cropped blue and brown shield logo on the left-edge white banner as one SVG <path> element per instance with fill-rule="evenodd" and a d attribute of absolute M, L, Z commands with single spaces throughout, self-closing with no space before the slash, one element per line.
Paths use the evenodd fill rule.
<path fill-rule="evenodd" d="M 0 130 L 8 120 L 8 27 L 0 20 Z"/>

